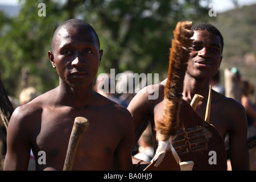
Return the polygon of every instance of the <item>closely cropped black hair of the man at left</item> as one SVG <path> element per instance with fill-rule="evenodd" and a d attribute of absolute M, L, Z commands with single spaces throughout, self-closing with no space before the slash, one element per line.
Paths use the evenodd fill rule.
<path fill-rule="evenodd" d="M 69 20 L 65 21 L 64 23 L 60 24 L 59 27 L 56 28 L 56 30 L 52 36 L 52 51 L 55 48 L 57 33 L 62 28 L 67 28 L 67 29 L 77 28 L 79 30 L 91 30 L 93 32 L 93 34 L 96 36 L 98 48 L 100 49 L 100 39 L 98 39 L 98 35 L 97 35 L 96 31 L 93 29 L 93 27 L 90 26 L 90 24 L 85 22 L 84 20 L 74 18 L 74 19 L 69 19 Z"/>

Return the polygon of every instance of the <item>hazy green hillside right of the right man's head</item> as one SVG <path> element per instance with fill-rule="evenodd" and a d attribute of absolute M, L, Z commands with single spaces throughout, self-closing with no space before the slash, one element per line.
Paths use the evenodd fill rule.
<path fill-rule="evenodd" d="M 224 37 L 222 53 L 221 77 L 224 84 L 224 69 L 237 67 L 243 77 L 256 86 L 256 5 L 243 6 L 210 18 L 209 23 L 218 27 Z M 246 55 L 254 55 L 251 63 L 246 61 Z M 254 103 L 256 94 L 254 94 Z"/>

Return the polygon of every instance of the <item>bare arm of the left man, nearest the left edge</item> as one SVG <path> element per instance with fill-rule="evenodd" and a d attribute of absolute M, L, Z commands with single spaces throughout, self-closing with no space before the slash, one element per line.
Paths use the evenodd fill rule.
<path fill-rule="evenodd" d="M 20 108 L 17 108 L 7 129 L 7 152 L 3 170 L 27 170 L 31 148 L 27 127 Z"/>

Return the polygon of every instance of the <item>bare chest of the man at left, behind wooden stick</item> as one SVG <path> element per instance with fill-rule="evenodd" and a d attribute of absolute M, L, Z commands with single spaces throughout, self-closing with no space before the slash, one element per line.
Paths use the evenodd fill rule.
<path fill-rule="evenodd" d="M 88 119 L 89 128 L 77 147 L 76 161 L 92 163 L 92 160 L 105 160 L 113 156 L 121 132 L 115 130 L 116 123 L 110 121 L 110 114 L 94 110 L 47 109 L 37 121 L 32 135 L 34 155 L 44 151 L 47 166 L 63 167 L 73 123 L 78 116 Z"/>

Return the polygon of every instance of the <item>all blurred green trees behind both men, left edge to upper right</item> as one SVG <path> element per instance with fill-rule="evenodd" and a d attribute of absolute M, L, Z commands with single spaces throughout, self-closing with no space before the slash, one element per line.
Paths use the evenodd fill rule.
<path fill-rule="evenodd" d="M 18 16 L 0 14 L 0 72 L 7 93 L 17 96 L 23 68 L 30 70 L 28 85 L 40 93 L 58 84 L 48 61 L 56 27 L 69 18 L 81 18 L 96 30 L 104 49 L 99 73 L 127 69 L 137 73 L 168 71 L 172 31 L 181 20 L 199 20 L 208 9 L 199 0 L 68 0 L 21 1 Z M 46 16 L 38 16 L 39 3 Z M 62 2 L 62 3 L 60 3 Z M 201 17 L 201 18 L 200 18 Z M 161 74 L 160 74 L 161 75 Z"/>

